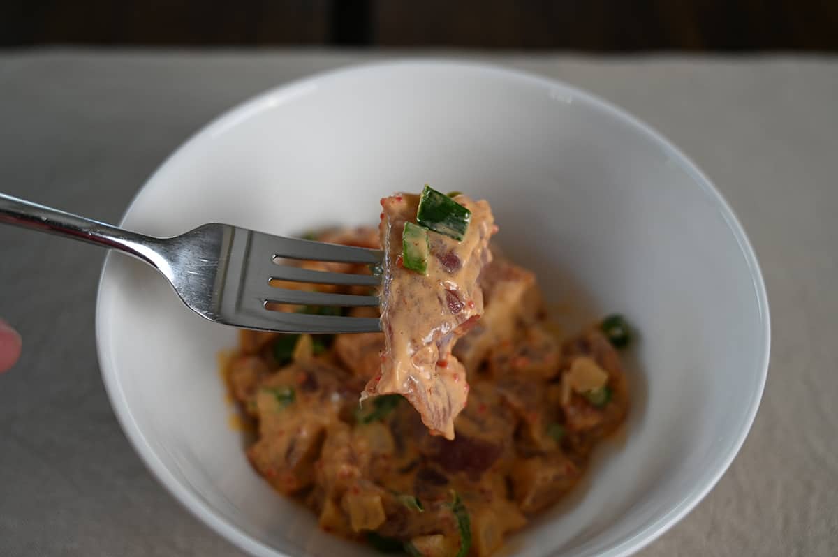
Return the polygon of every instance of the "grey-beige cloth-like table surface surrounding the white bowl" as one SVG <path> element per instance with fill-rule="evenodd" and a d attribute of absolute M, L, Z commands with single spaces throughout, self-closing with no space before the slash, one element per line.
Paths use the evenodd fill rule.
<path fill-rule="evenodd" d="M 834 555 L 838 547 L 838 58 L 433 53 L 565 80 L 649 122 L 737 211 L 768 286 L 773 349 L 722 481 L 640 554 Z M 118 222 L 199 126 L 261 90 L 393 54 L 0 54 L 0 189 Z M 49 255 L 49 256 L 48 256 Z M 0 229 L 0 555 L 241 555 L 168 495 L 111 411 L 94 338 L 104 251 Z"/>

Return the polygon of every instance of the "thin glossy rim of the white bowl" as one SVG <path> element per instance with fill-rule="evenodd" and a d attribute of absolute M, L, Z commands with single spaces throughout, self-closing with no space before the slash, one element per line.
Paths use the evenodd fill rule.
<path fill-rule="evenodd" d="M 564 81 L 553 78 L 530 74 L 522 70 L 514 70 L 508 67 L 497 64 L 489 64 L 485 62 L 473 61 L 469 59 L 435 59 L 435 58 L 416 58 L 416 59 L 395 59 L 388 61 L 374 61 L 362 64 L 349 64 L 339 67 L 335 70 L 327 70 L 318 72 L 313 75 L 304 76 L 303 78 L 289 81 L 282 85 L 277 85 L 269 90 L 263 91 L 255 96 L 252 96 L 245 101 L 232 106 L 226 111 L 222 112 L 204 126 L 200 127 L 196 132 L 193 132 L 189 138 L 175 149 L 168 157 L 166 157 L 162 164 L 147 178 L 142 187 L 137 190 L 137 193 L 131 199 L 128 207 L 120 223 L 124 224 L 128 215 L 131 214 L 137 199 L 142 192 L 147 188 L 154 188 L 158 186 L 158 178 L 165 173 L 173 162 L 178 158 L 184 157 L 196 147 L 197 144 L 205 142 L 209 138 L 225 132 L 231 126 L 235 126 L 240 121 L 244 121 L 251 116 L 254 116 L 261 111 L 282 104 L 298 95 L 305 95 L 313 90 L 316 85 L 324 81 L 340 80 L 346 75 L 362 75 L 365 73 L 378 73 L 391 70 L 399 70 L 403 68 L 432 68 L 434 66 L 447 67 L 448 69 L 462 70 L 463 73 L 496 75 L 507 80 L 515 80 L 531 85 L 538 85 L 551 90 L 562 90 L 571 95 L 572 98 L 578 99 L 588 106 L 602 111 L 608 116 L 613 117 L 618 121 L 636 129 L 641 135 L 644 135 L 655 145 L 660 147 L 670 157 L 677 160 L 680 166 L 686 173 L 691 174 L 692 178 L 704 190 L 707 198 L 716 205 L 716 209 L 722 214 L 727 223 L 727 227 L 731 230 L 732 235 L 737 240 L 739 250 L 745 259 L 748 270 L 751 273 L 751 280 L 753 282 L 753 290 L 757 299 L 758 312 L 762 322 L 762 331 L 758 339 L 761 344 L 761 353 L 759 354 L 758 363 L 758 388 L 752 393 L 750 400 L 747 401 L 747 412 L 745 415 L 744 427 L 738 432 L 732 444 L 728 446 L 724 457 L 719 461 L 719 465 L 715 470 L 711 471 L 708 477 L 703 478 L 701 483 L 696 483 L 688 493 L 681 496 L 680 501 L 675 503 L 666 513 L 654 520 L 652 523 L 637 529 L 634 533 L 627 537 L 618 540 L 617 543 L 603 553 L 601 557 L 625 557 L 630 554 L 643 549 L 651 544 L 655 539 L 658 539 L 662 534 L 669 530 L 675 523 L 678 523 L 681 518 L 684 518 L 687 513 L 690 513 L 698 503 L 705 498 L 706 494 L 716 486 L 716 483 L 722 478 L 727 469 L 730 467 L 733 459 L 737 456 L 741 449 L 748 432 L 751 430 L 753 420 L 756 417 L 759 403 L 762 400 L 765 383 L 768 378 L 768 360 L 771 350 L 771 323 L 770 314 L 768 310 L 768 294 L 765 289 L 762 271 L 760 271 L 757 256 L 753 250 L 753 246 L 742 229 L 737 215 L 734 213 L 731 206 L 724 199 L 722 193 L 716 189 L 711 180 L 706 177 L 704 173 L 696 166 L 695 162 L 687 157 L 678 147 L 670 142 L 663 134 L 649 126 L 644 121 L 640 121 L 635 116 L 624 111 L 622 108 L 613 105 L 609 101 L 605 101 L 597 95 L 593 95 L 585 90 L 579 89 L 576 86 L 568 85 Z M 128 440 L 131 442 L 137 454 L 141 457 L 142 462 L 148 470 L 153 473 L 158 482 L 162 483 L 168 489 L 174 498 L 181 503 L 189 512 L 199 518 L 206 526 L 215 532 L 221 534 L 225 539 L 230 541 L 239 549 L 242 549 L 250 554 L 259 555 L 260 557 L 287 557 L 287 554 L 282 553 L 278 549 L 261 543 L 259 540 L 246 534 L 239 529 L 235 524 L 230 523 L 220 513 L 215 511 L 209 503 L 198 494 L 193 493 L 189 487 L 178 481 L 176 477 L 169 472 L 163 461 L 160 460 L 157 453 L 153 450 L 146 436 L 140 430 L 136 420 L 127 405 L 127 398 L 122 390 L 122 383 L 119 374 L 116 371 L 116 366 L 113 364 L 106 346 L 106 339 L 109 338 L 109 332 L 104 326 L 104 309 L 102 302 L 102 287 L 106 280 L 106 275 L 109 266 L 111 265 L 111 258 L 114 257 L 112 253 L 108 253 L 105 262 L 102 266 L 102 271 L 99 279 L 99 285 L 96 294 L 96 351 L 99 358 L 100 370 L 103 383 L 105 384 L 108 399 L 116 415 L 116 419 L 122 426 L 122 431 L 126 434 Z"/>

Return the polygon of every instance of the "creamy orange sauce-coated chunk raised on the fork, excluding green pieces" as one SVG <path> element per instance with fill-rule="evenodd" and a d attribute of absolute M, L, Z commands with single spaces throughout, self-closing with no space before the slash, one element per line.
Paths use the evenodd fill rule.
<path fill-rule="evenodd" d="M 380 375 L 365 389 L 365 395 L 403 395 L 427 428 L 447 439 L 454 438 L 454 418 L 468 400 L 466 370 L 451 350 L 483 314 L 478 276 L 492 260 L 489 237 L 496 230 L 487 202 L 464 195 L 454 200 L 472 212 L 468 230 L 461 241 L 429 231 L 427 275 L 421 275 L 401 266 L 402 230 L 416 221 L 419 196 L 381 199 L 385 350 Z"/>

